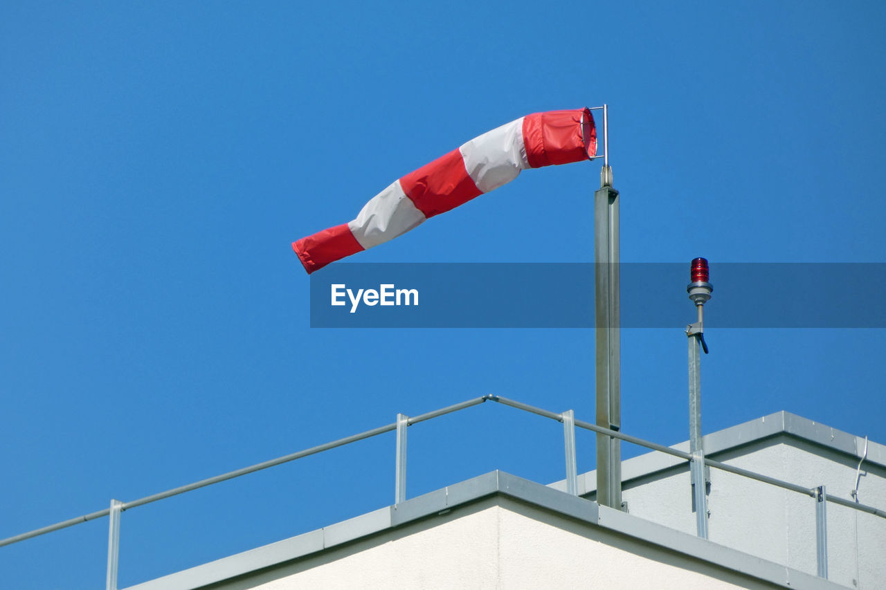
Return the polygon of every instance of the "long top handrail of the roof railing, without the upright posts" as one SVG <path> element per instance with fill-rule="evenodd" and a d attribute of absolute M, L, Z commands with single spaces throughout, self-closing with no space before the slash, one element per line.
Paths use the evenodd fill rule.
<path fill-rule="evenodd" d="M 544 416 L 546 418 L 550 418 L 552 420 L 556 420 L 557 422 L 563 422 L 563 413 L 551 412 L 549 410 L 543 408 L 537 408 L 535 406 L 531 406 L 529 404 L 525 404 L 516 400 L 509 400 L 508 398 L 503 398 L 498 395 L 484 395 L 479 398 L 472 398 L 470 400 L 462 401 L 461 403 L 454 404 L 452 406 L 447 406 L 446 408 L 439 408 L 433 410 L 431 412 L 427 412 L 422 415 L 416 415 L 408 418 L 408 425 L 412 425 L 415 423 L 424 422 L 425 420 L 431 420 L 431 418 L 436 418 L 441 415 L 452 414 L 453 412 L 457 412 L 464 408 L 470 408 L 471 406 L 477 406 L 485 401 L 495 401 L 500 403 L 503 406 L 509 406 L 511 408 L 517 408 L 520 410 L 524 410 L 525 412 L 530 412 L 532 414 L 537 414 L 540 416 Z M 605 428 L 602 426 L 597 426 L 594 423 L 588 423 L 583 420 L 574 420 L 575 426 L 579 428 L 583 428 L 587 431 L 594 431 L 599 434 L 605 434 L 615 439 L 624 440 L 625 442 L 632 443 L 638 446 L 644 446 L 653 451 L 658 451 L 664 454 L 670 454 L 675 457 L 679 457 L 684 461 L 691 462 L 694 460 L 692 454 L 689 454 L 685 451 L 680 451 L 678 449 L 672 448 L 671 446 L 659 445 L 657 443 L 651 442 L 649 440 L 640 439 L 638 437 L 631 436 L 629 434 L 625 434 L 621 431 L 613 431 L 609 428 Z M 358 434 L 351 435 L 349 437 L 345 437 L 344 439 L 332 440 L 330 442 L 324 443 L 323 445 L 312 446 L 310 448 L 304 449 L 302 451 L 297 451 L 291 454 L 284 454 L 281 457 L 277 457 L 276 459 L 270 459 L 265 462 L 256 463 L 249 467 L 244 467 L 239 470 L 229 471 L 227 473 L 222 473 L 221 475 L 217 475 L 214 477 L 207 477 L 206 479 L 201 479 L 194 483 L 188 485 L 181 485 L 179 487 L 172 488 L 165 492 L 154 493 L 150 496 L 145 496 L 144 498 L 140 498 L 134 501 L 123 502 L 120 506 L 120 510 L 128 510 L 129 508 L 136 508 L 136 506 L 143 506 L 144 504 L 149 504 L 151 502 L 163 500 L 180 493 L 190 492 L 191 490 L 196 490 L 201 487 L 206 487 L 206 485 L 213 485 L 220 483 L 222 481 L 226 481 L 228 479 L 233 479 L 234 477 L 244 476 L 248 473 L 253 473 L 255 471 L 265 470 L 269 467 L 274 467 L 276 465 L 280 465 L 285 462 L 295 461 L 296 459 L 301 459 L 302 457 L 307 457 L 311 454 L 322 453 L 323 451 L 328 451 L 332 448 L 336 448 L 337 446 L 344 446 L 350 443 L 356 442 L 362 439 L 369 439 L 371 437 L 377 436 L 378 434 L 384 434 L 385 432 L 391 432 L 397 430 L 397 423 L 385 424 L 384 426 L 379 426 L 378 428 L 373 428 L 369 431 L 363 431 Z M 792 484 L 790 482 L 778 479 L 776 477 L 769 477 L 763 474 L 757 473 L 755 471 L 745 470 L 740 467 L 734 467 L 733 465 L 727 465 L 726 463 L 714 461 L 713 459 L 704 458 L 704 464 L 711 465 L 711 467 L 719 470 L 728 471 L 730 473 L 734 473 L 735 475 L 749 477 L 750 479 L 756 479 L 757 481 L 763 482 L 769 485 L 776 485 L 778 487 L 784 488 L 786 490 L 790 490 L 792 492 L 803 493 L 807 496 L 815 497 L 816 495 L 816 486 L 813 487 L 804 487 L 803 485 Z M 855 508 L 862 512 L 867 512 L 868 514 L 872 514 L 874 516 L 880 516 L 882 518 L 886 518 L 886 510 L 882 510 L 880 508 L 874 508 L 873 506 L 867 506 L 867 504 L 861 504 L 856 501 L 849 501 L 843 498 L 838 498 L 836 496 L 828 494 L 827 501 L 834 502 L 835 504 L 839 504 L 846 508 Z M 61 521 L 56 524 L 50 524 L 48 526 L 44 526 L 39 529 L 35 529 L 29 532 L 23 532 L 18 535 L 14 535 L 12 537 L 8 537 L 4 540 L 0 540 L 0 547 L 4 547 L 6 545 L 12 545 L 13 543 L 17 543 L 22 540 L 31 539 L 33 537 L 37 537 L 48 532 L 58 531 L 60 529 L 64 529 L 69 526 L 74 526 L 74 524 L 85 523 L 89 520 L 95 520 L 96 518 L 101 518 L 102 516 L 108 516 L 111 512 L 111 508 L 105 508 L 103 510 L 97 510 L 96 512 L 90 512 L 89 514 L 83 516 L 77 516 L 75 518 L 70 518 L 65 521 Z"/>

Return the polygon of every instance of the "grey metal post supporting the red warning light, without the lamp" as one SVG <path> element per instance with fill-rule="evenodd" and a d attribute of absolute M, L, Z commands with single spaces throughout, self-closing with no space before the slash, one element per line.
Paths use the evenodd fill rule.
<path fill-rule="evenodd" d="M 698 309 L 699 329 L 702 324 L 702 306 Z M 692 476 L 693 503 L 696 506 L 696 532 L 702 539 L 708 538 L 708 502 L 704 482 L 704 446 L 702 443 L 702 367 L 701 338 L 693 330 L 688 330 L 689 342 L 689 464 Z"/>

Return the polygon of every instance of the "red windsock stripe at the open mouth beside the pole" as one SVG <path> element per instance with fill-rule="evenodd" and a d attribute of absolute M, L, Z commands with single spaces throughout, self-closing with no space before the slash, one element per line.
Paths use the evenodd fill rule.
<path fill-rule="evenodd" d="M 594 156 L 597 130 L 589 109 L 533 113 L 523 119 L 529 166 L 571 164 Z"/>

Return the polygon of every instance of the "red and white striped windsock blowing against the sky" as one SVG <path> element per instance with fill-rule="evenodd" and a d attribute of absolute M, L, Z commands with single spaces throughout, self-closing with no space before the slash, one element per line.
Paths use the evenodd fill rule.
<path fill-rule="evenodd" d="M 526 115 L 401 177 L 371 198 L 354 221 L 302 237 L 292 250 L 311 274 L 497 189 L 521 170 L 590 159 L 596 149 L 587 108 Z"/>

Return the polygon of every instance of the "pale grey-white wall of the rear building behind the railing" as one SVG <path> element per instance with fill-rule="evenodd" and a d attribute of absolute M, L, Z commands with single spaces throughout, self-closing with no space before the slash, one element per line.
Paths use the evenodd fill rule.
<path fill-rule="evenodd" d="M 847 500 L 851 500 L 858 465 L 858 459 L 788 435 L 711 458 L 798 485 L 823 484 L 828 494 Z M 628 472 L 630 461 L 635 460 L 626 462 Z M 863 465 L 862 474 L 859 501 L 886 506 L 886 474 L 876 465 Z M 626 482 L 623 499 L 634 516 L 696 533 L 685 464 Z M 708 510 L 712 541 L 816 573 L 812 497 L 711 469 Z M 886 519 L 828 503 L 828 579 L 849 587 L 886 587 Z"/>

